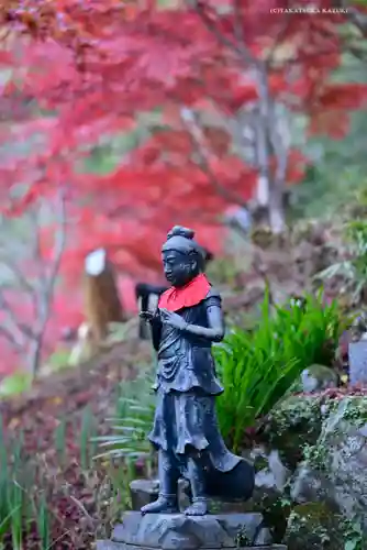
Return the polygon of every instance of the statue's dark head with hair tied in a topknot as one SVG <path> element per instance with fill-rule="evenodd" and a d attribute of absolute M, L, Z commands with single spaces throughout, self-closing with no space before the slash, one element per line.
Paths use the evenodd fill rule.
<path fill-rule="evenodd" d="M 203 271 L 205 254 L 193 237 L 192 229 L 175 226 L 162 246 L 165 276 L 173 286 L 185 286 Z"/>

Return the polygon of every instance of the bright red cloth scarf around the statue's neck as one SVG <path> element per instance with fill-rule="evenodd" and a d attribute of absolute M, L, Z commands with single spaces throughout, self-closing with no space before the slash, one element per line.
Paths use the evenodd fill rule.
<path fill-rule="evenodd" d="M 160 296 L 158 307 L 168 311 L 178 311 L 182 308 L 197 306 L 208 296 L 211 284 L 207 276 L 201 273 L 180 288 L 175 286 L 168 288 Z"/>

